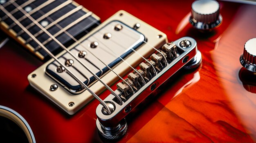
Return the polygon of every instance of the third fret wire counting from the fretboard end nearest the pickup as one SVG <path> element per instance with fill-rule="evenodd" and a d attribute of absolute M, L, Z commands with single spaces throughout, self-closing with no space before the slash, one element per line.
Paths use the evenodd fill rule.
<path fill-rule="evenodd" d="M 45 13 L 45 15 L 42 15 L 40 18 L 36 19 L 36 21 L 40 22 L 41 20 L 43 20 L 44 18 L 46 18 L 47 16 L 51 15 L 52 13 L 58 11 L 59 9 L 65 7 L 67 4 L 70 4 L 72 1 L 67 0 L 64 3 L 62 3 L 61 5 L 59 5 L 58 7 L 55 7 L 54 9 L 52 9 L 51 11 L 48 11 L 47 13 Z M 31 28 L 32 26 L 34 26 L 34 22 L 30 23 L 28 26 L 26 26 L 26 29 Z M 19 33 L 17 33 L 17 36 L 19 36 L 20 34 L 22 34 L 23 31 L 20 31 Z"/>

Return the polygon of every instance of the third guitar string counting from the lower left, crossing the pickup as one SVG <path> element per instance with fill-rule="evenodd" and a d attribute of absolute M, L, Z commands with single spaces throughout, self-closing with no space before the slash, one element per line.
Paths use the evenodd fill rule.
<path fill-rule="evenodd" d="M 45 13 L 41 10 L 38 11 L 39 13 L 41 13 L 42 15 L 44 15 Z M 52 18 L 50 18 L 49 16 L 45 17 L 48 20 L 50 20 L 51 22 L 54 22 L 54 20 L 52 20 Z M 59 29 L 63 29 L 63 27 L 61 27 L 58 23 L 54 24 L 56 25 Z M 130 86 L 130 84 L 128 84 L 127 81 L 125 81 L 120 75 L 118 75 L 112 68 L 110 68 L 107 64 L 105 64 L 101 59 L 99 59 L 99 57 L 97 57 L 96 55 L 94 55 L 86 46 L 84 46 L 79 40 L 77 40 L 74 36 L 72 36 L 70 33 L 68 33 L 66 30 L 64 31 L 69 37 L 71 37 L 76 43 L 78 43 L 80 46 L 82 46 L 83 48 L 85 48 L 90 54 L 92 54 L 94 57 L 96 57 L 101 63 L 103 63 L 108 69 L 110 69 L 113 73 L 115 73 L 115 75 L 117 75 L 119 77 L 119 79 L 121 79 L 122 81 L 124 81 L 124 83 L 126 83 L 129 88 L 132 90 L 132 92 L 134 93 L 135 91 L 133 90 L 133 88 Z"/>

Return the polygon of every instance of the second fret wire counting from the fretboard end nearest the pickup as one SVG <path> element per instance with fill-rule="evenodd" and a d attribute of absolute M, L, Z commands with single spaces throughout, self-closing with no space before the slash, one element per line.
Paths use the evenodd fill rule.
<path fill-rule="evenodd" d="M 55 20 L 54 22 L 50 23 L 49 25 L 47 25 L 45 27 L 45 29 L 49 29 L 51 28 L 52 26 L 56 25 L 58 22 L 61 22 L 61 20 L 67 18 L 68 16 L 72 15 L 73 13 L 75 13 L 76 11 L 79 11 L 80 9 L 82 9 L 83 6 L 79 6 L 79 7 L 76 7 L 75 9 L 72 9 L 71 11 L 69 11 L 68 13 L 66 13 L 65 15 L 61 16 L 60 18 L 58 18 L 57 20 Z M 48 18 L 47 18 L 48 19 Z M 35 37 L 37 37 L 38 35 L 40 35 L 41 33 L 43 33 L 42 30 L 38 31 L 36 34 L 34 34 Z M 31 37 L 26 41 L 26 43 L 30 42 L 32 39 Z"/>

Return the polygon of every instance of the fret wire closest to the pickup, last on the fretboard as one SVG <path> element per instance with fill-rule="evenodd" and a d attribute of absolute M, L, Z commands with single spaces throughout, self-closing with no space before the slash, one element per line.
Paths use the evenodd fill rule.
<path fill-rule="evenodd" d="M 81 22 L 82 20 L 84 20 L 85 18 L 87 18 L 88 16 L 92 15 L 92 12 L 88 12 L 85 15 L 81 16 L 79 19 L 75 20 L 74 22 L 70 23 L 69 25 L 65 26 L 63 29 L 61 29 L 60 31 L 58 31 L 57 33 L 55 33 L 53 36 L 57 37 L 58 35 L 60 35 L 61 33 L 63 33 L 64 31 L 66 31 L 67 29 L 71 28 L 72 26 L 74 26 L 75 24 Z M 51 37 L 49 37 L 47 40 L 45 40 L 43 42 L 43 44 L 47 44 L 48 42 L 50 42 L 52 40 Z M 37 46 L 35 48 L 35 51 L 37 51 L 40 48 L 40 46 Z"/>

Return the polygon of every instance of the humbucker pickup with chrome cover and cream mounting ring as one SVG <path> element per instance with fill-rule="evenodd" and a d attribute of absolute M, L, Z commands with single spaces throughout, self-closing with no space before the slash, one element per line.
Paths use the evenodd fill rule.
<path fill-rule="evenodd" d="M 136 67 L 144 61 L 141 57 L 150 56 L 155 52 L 155 47 L 160 48 L 166 42 L 167 37 L 161 31 L 135 18 L 126 11 L 118 11 L 79 39 L 79 43 L 83 46 L 79 46 L 76 42 L 68 49 L 79 60 L 85 62 L 86 66 L 92 68 L 101 81 L 107 85 L 112 85 L 120 79 L 117 75 L 124 77 L 132 70 L 131 67 Z M 100 64 L 101 62 L 97 58 L 93 58 L 91 56 L 92 53 L 97 55 L 97 58 L 101 59 L 106 65 L 112 67 L 115 73 L 108 70 L 106 65 Z M 65 51 L 62 51 L 56 57 L 72 70 L 75 75 L 83 79 L 84 83 L 87 82 L 86 84 L 90 90 L 97 95 L 106 90 L 106 87 L 99 80 L 94 80 L 94 77 L 80 66 L 75 59 L 69 57 Z M 65 112 L 74 114 L 94 97 L 88 90 L 78 86 L 77 82 L 69 77 L 66 71 L 63 71 L 64 68 L 59 67 L 54 61 L 54 59 L 50 59 L 29 74 L 29 84 Z M 88 82 L 88 79 L 90 79 L 90 82 Z"/>

